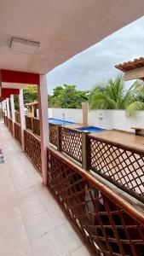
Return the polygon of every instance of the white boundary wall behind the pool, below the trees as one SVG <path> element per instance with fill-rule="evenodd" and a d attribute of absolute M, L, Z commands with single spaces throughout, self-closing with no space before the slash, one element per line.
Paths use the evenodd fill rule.
<path fill-rule="evenodd" d="M 82 109 L 49 108 L 49 118 L 83 123 Z M 89 125 L 132 131 L 131 126 L 144 127 L 144 111 L 137 112 L 135 117 L 128 117 L 124 110 L 91 110 L 89 111 Z"/>

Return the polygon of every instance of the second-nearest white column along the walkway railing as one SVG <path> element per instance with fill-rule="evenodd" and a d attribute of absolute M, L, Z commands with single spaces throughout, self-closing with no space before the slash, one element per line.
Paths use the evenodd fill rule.
<path fill-rule="evenodd" d="M 22 147 L 22 151 L 24 152 L 25 151 L 24 129 L 26 128 L 26 123 L 25 123 L 24 98 L 23 98 L 22 89 L 20 89 L 20 94 L 19 94 L 19 105 L 20 105 L 21 147 Z"/>

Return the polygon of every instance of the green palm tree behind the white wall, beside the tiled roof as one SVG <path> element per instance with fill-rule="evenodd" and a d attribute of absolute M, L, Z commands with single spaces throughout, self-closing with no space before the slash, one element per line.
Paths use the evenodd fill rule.
<path fill-rule="evenodd" d="M 106 84 L 95 85 L 89 96 L 89 105 L 90 109 L 126 109 L 130 116 L 135 115 L 136 111 L 144 110 L 143 82 L 136 80 L 126 90 L 124 76 L 108 79 Z"/>

